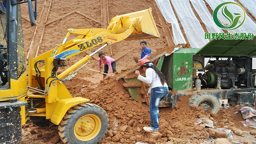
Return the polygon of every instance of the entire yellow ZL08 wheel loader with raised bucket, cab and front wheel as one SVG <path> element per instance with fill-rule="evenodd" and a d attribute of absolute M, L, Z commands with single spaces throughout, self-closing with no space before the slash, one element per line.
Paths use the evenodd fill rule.
<path fill-rule="evenodd" d="M 100 142 L 108 130 L 107 113 L 86 103 L 86 98 L 72 97 L 63 83 L 76 76 L 92 55 L 107 45 L 160 37 L 151 8 L 116 16 L 107 29 L 69 28 L 56 48 L 28 60 L 27 79 L 20 4 L 28 4 L 31 26 L 36 25 L 36 0 L 0 0 L 0 143 L 19 143 L 21 125 L 42 119 L 59 125 L 64 143 Z M 77 37 L 69 40 L 73 34 Z M 59 67 L 67 67 L 70 57 L 95 46 L 101 47 L 57 73 Z"/>

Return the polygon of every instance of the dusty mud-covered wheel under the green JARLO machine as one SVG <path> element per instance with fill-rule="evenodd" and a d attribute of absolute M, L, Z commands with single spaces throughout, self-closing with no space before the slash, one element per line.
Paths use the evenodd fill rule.
<path fill-rule="evenodd" d="M 199 93 L 199 95 L 193 95 L 188 99 L 188 106 L 202 106 L 204 110 L 211 108 L 211 112 L 216 114 L 220 110 L 219 99 L 211 93 Z"/>

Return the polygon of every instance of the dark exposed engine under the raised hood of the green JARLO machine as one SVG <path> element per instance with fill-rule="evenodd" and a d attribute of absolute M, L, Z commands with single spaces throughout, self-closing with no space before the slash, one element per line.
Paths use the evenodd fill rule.
<path fill-rule="evenodd" d="M 231 89 L 255 87 L 252 57 L 229 56 L 211 58 L 204 71 L 198 73 L 202 88 Z"/>

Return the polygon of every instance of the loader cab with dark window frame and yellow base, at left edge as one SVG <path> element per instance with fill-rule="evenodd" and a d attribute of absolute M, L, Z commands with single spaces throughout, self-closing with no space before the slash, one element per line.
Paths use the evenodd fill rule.
<path fill-rule="evenodd" d="M 18 99 L 27 93 L 19 3 L 20 0 L 0 0 L 0 101 Z"/>

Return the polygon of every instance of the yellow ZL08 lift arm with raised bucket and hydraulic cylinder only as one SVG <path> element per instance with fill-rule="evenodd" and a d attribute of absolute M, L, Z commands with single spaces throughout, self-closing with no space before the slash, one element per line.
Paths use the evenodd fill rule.
<path fill-rule="evenodd" d="M 91 49 L 95 46 L 104 43 L 110 45 L 122 40 L 160 37 L 151 11 L 152 9 L 149 8 L 147 10 L 142 10 L 139 12 L 133 12 L 121 16 L 116 16 L 111 19 L 107 29 L 69 28 L 68 33 L 65 36 L 63 42 L 60 45 L 57 45 L 57 47 L 54 50 L 51 50 L 51 56 L 49 56 L 50 52 L 46 52 L 45 54 L 38 56 L 38 58 L 35 59 L 37 61 L 42 60 L 42 57 L 69 59 L 70 57 L 75 56 L 76 54 L 79 54 L 81 52 L 84 52 L 88 49 Z M 70 34 L 80 36 L 66 42 Z M 62 79 L 63 77 L 67 76 L 68 73 L 79 67 L 84 62 L 88 61 L 91 58 L 91 56 L 92 55 L 85 56 L 84 59 L 78 61 L 76 64 L 62 72 L 57 77 Z"/>

